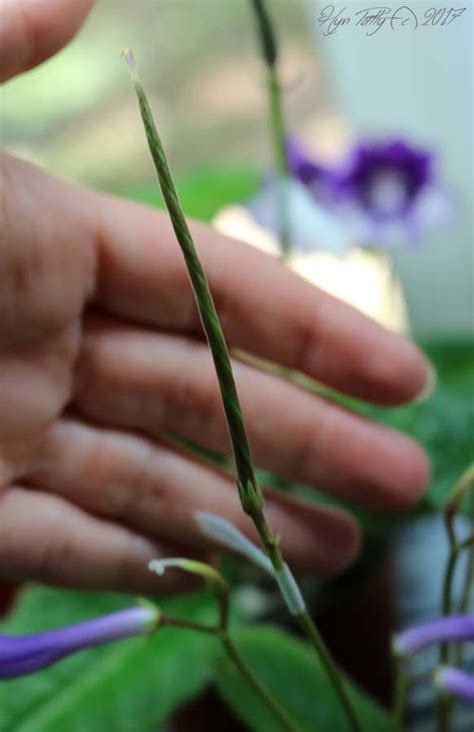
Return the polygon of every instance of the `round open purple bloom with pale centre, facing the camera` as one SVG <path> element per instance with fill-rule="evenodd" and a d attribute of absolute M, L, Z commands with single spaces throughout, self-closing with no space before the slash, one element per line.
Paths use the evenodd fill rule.
<path fill-rule="evenodd" d="M 394 248 L 446 223 L 450 207 L 435 162 L 432 152 L 401 139 L 358 145 L 335 188 L 337 210 L 354 237 Z"/>

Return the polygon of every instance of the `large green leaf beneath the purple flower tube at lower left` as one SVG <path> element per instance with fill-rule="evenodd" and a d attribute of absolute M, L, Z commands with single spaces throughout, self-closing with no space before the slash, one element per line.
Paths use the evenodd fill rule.
<path fill-rule="evenodd" d="M 136 602 L 131 597 L 33 588 L 20 597 L 1 633 L 33 633 Z M 161 602 L 169 614 L 210 622 L 205 594 Z M 0 685 L 2 732 L 151 732 L 209 682 L 214 638 L 164 628 L 149 639 L 93 648 L 31 676 Z"/>

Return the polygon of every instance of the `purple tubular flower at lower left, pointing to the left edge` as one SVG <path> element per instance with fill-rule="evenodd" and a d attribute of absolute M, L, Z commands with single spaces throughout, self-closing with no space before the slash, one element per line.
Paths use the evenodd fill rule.
<path fill-rule="evenodd" d="M 160 611 L 150 604 L 44 633 L 1 635 L 0 679 L 30 674 L 84 648 L 147 635 L 158 626 L 159 618 Z"/>

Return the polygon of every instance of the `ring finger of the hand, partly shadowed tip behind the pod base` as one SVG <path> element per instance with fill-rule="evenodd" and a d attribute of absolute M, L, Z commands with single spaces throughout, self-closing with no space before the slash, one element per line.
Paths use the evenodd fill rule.
<path fill-rule="evenodd" d="M 25 482 L 160 542 L 207 549 L 196 511 L 217 513 L 257 540 L 227 475 L 136 434 L 60 420 Z M 344 511 L 265 495 L 268 520 L 296 569 L 327 574 L 354 559 L 357 525 Z"/>

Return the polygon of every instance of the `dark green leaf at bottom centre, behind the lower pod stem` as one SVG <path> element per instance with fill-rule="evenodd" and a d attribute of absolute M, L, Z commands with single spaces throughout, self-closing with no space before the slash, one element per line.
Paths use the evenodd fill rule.
<path fill-rule="evenodd" d="M 268 626 L 238 630 L 233 639 L 252 671 L 301 732 L 349 732 L 331 683 L 311 649 Z M 227 659 L 219 665 L 216 683 L 224 700 L 249 729 L 281 732 L 278 722 Z M 389 715 L 349 681 L 347 684 L 363 728 L 393 732 Z"/>

